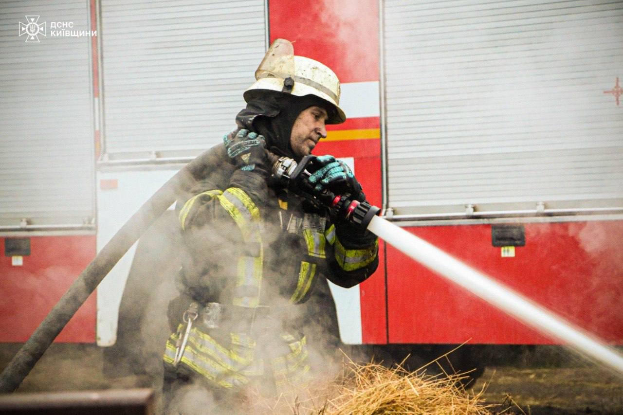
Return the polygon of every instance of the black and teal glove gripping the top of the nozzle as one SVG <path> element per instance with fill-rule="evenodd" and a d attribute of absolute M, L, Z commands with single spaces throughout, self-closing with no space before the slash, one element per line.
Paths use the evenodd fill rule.
<path fill-rule="evenodd" d="M 354 177 L 353 171 L 335 157 L 326 155 L 318 156 L 313 161 L 313 165 L 318 168 L 308 179 L 315 185 L 314 191 L 322 193 L 325 189 L 335 194 L 350 194 L 354 199 L 363 202 L 366 195 L 361 189 L 361 184 Z"/>

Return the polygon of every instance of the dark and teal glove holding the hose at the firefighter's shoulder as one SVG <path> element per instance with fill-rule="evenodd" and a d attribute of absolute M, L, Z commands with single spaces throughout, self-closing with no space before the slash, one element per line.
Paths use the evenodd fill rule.
<path fill-rule="evenodd" d="M 227 155 L 234 160 L 237 168 L 244 171 L 261 170 L 267 172 L 267 157 L 263 135 L 254 131 L 238 130 L 223 136 Z"/>

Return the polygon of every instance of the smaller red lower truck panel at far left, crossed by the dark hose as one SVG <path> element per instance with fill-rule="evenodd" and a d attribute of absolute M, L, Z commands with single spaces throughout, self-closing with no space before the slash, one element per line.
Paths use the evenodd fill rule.
<path fill-rule="evenodd" d="M 31 237 L 24 265 L 11 265 L 0 238 L 0 341 L 26 341 L 47 313 L 95 257 L 95 236 Z M 95 293 L 56 341 L 95 342 Z"/>

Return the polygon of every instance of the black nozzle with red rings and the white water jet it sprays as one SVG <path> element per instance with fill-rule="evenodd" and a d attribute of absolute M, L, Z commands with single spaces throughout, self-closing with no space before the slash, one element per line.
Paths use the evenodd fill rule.
<path fill-rule="evenodd" d="M 318 204 L 329 206 L 333 216 L 347 219 L 368 229 L 445 279 L 539 332 L 561 341 L 581 355 L 599 361 L 618 376 L 623 376 L 623 356 L 616 350 L 510 287 L 500 284 L 414 234 L 376 216 L 379 212 L 378 207 L 371 206 L 367 202 L 351 201 L 348 194 L 335 195 L 325 191 L 325 194 L 311 196 L 312 186 L 306 182 L 313 173 L 307 170 L 310 165 L 313 165 L 313 156 L 303 158 L 298 165 L 291 159 L 280 158 L 273 167 L 273 175 L 282 179 L 292 191 L 302 193 L 302 196 L 315 200 Z"/>

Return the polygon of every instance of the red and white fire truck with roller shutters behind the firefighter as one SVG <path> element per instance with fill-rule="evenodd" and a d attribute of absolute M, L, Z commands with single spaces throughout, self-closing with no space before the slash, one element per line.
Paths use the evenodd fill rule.
<path fill-rule="evenodd" d="M 386 219 L 623 343 L 620 1 L 29 0 L 2 2 L 0 23 L 0 341 L 25 341 L 232 129 L 283 38 L 341 80 L 348 120 L 314 153 L 350 164 Z M 141 249 L 57 341 L 115 344 Z M 331 286 L 343 343 L 554 343 L 382 241 L 379 255 L 363 284 Z"/>

